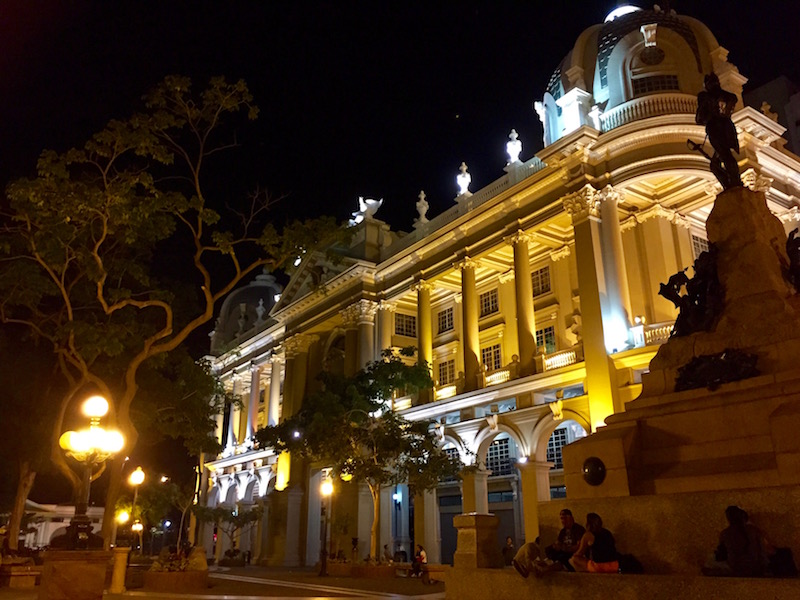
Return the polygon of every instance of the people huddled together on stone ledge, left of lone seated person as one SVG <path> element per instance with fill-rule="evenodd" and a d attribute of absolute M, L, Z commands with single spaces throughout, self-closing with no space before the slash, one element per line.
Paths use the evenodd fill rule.
<path fill-rule="evenodd" d="M 586 527 L 575 522 L 568 508 L 559 513 L 561 530 L 553 544 L 544 549 L 542 558 L 539 539 L 525 544 L 510 559 L 510 564 L 523 577 L 531 573 L 537 577 L 556 571 L 585 573 L 617 573 L 619 559 L 612 533 L 603 527 L 597 513 L 586 515 Z M 506 540 L 506 547 L 510 538 Z M 510 552 L 504 549 L 506 562 Z"/>

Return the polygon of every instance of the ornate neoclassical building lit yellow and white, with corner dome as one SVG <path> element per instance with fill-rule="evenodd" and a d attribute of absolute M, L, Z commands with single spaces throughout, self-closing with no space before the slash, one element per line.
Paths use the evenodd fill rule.
<path fill-rule="evenodd" d="M 284 289 L 264 274 L 229 296 L 210 359 L 242 402 L 218 420 L 224 451 L 203 465 L 202 491 L 209 505 L 264 503 L 242 550 L 287 566 L 314 564 L 320 550 L 324 465 L 259 448 L 255 431 L 298 410 L 322 369 L 354 373 L 410 345 L 436 386 L 391 408 L 432 420 L 478 469 L 414 498 L 384 490 L 379 547 L 408 552 L 413 536 L 431 562 L 449 562 L 453 515 L 471 511 L 497 514 L 502 538 L 535 538 L 540 503 L 569 495 L 561 449 L 639 394 L 676 316 L 659 284 L 707 247 L 721 188 L 687 139 L 704 139 L 694 113 L 710 72 L 739 98 L 745 184 L 793 229 L 800 158 L 783 127 L 742 104 L 746 78 L 705 25 L 631 9 L 589 27 L 558 65 L 536 103 L 536 156 L 520 159 L 512 131 L 498 179 L 471 191 L 462 165 L 449 210 L 429 216 L 420 194 L 414 231 L 393 231 L 372 205 L 353 219 L 341 262 L 308 254 Z M 329 516 L 333 551 L 363 558 L 368 491 L 338 484 Z"/>

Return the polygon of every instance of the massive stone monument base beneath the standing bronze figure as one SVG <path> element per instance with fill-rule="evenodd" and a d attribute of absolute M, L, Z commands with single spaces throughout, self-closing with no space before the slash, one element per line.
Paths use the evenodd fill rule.
<path fill-rule="evenodd" d="M 737 186 L 717 197 L 706 227 L 712 252 L 695 264 L 695 288 L 718 286 L 713 314 L 688 277 L 662 286 L 682 317 L 702 318 L 659 349 L 624 412 L 564 449 L 573 510 L 591 499 L 639 536 L 660 530 L 658 551 L 642 559 L 661 572 L 698 571 L 728 504 L 799 550 L 800 295 L 787 237 L 764 194 Z M 676 525 L 666 532 L 665 514 Z"/>

